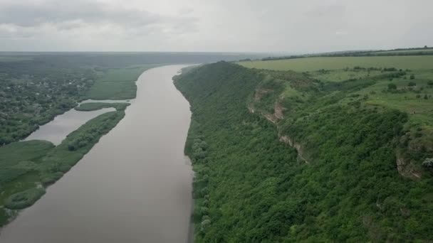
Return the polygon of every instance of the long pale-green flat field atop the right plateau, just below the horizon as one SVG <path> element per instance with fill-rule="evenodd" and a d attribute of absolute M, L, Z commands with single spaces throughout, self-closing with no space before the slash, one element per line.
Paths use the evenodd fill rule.
<path fill-rule="evenodd" d="M 338 70 L 344 68 L 397 68 L 410 70 L 433 69 L 433 56 L 390 56 L 390 57 L 337 57 L 337 58 L 297 58 L 288 60 L 240 62 L 246 68 L 268 70 L 294 70 L 311 72 L 317 70 Z"/>

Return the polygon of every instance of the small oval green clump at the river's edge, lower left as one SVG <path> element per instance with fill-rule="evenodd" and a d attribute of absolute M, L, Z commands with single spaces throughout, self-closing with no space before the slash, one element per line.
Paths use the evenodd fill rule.
<path fill-rule="evenodd" d="M 25 207 L 30 207 L 44 194 L 44 188 L 31 188 L 24 190 L 22 192 L 13 194 L 6 199 L 4 202 L 4 207 L 7 207 L 11 210 L 19 210 Z"/>

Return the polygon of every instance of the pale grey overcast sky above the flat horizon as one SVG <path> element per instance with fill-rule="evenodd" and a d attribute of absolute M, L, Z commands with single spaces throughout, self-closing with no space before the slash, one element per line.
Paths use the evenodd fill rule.
<path fill-rule="evenodd" d="M 0 50 L 314 53 L 433 45 L 433 0 L 0 0 Z"/>

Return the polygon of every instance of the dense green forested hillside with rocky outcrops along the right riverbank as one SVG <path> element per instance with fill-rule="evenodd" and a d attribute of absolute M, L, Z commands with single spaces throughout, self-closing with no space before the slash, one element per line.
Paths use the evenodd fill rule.
<path fill-rule="evenodd" d="M 359 94 L 397 72 L 321 82 L 219 62 L 175 77 L 192 109 L 195 241 L 432 240 L 428 133 Z"/>

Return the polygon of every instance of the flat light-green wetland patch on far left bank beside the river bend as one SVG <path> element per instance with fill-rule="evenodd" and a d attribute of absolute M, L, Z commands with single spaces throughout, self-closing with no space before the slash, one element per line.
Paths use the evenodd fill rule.
<path fill-rule="evenodd" d="M 135 81 L 150 68 L 157 65 L 110 68 L 103 70 L 101 77 L 90 87 L 88 99 L 134 99 L 137 92 Z"/>

